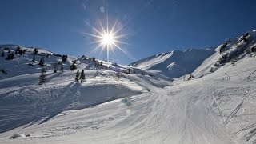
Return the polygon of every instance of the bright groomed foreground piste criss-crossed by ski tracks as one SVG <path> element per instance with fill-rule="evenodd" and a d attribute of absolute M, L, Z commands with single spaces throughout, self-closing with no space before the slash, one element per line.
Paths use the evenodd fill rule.
<path fill-rule="evenodd" d="M 30 122 L 2 133 L 0 142 L 254 143 L 254 62 L 255 58 L 242 58 L 236 66 L 224 66 L 222 70 L 191 81 L 173 82 L 173 86 L 162 90 L 87 109 L 66 110 L 46 122 Z M 228 81 L 223 76 L 227 70 L 247 69 L 251 71 L 234 75 Z M 13 109 L 7 107 L 6 110 Z M 13 110 L 16 113 L 6 118 L 24 118 L 31 114 L 19 110 L 17 106 Z M 11 138 L 14 134 L 30 136 Z"/>

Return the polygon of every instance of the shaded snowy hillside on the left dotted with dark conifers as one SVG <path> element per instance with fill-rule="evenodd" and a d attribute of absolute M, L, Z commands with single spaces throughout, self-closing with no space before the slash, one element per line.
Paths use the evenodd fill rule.
<path fill-rule="evenodd" d="M 7 47 L 11 52 L 17 48 Z M 2 50 L 4 48 L 6 46 L 2 46 Z M 9 54 L 9 50 L 4 51 Z M 44 57 L 46 65 L 42 67 L 38 61 L 46 50 L 42 51 L 39 50 L 38 54 L 15 54 L 12 60 L 0 57 L 0 66 L 7 72 L 3 74 L 0 71 L 0 132 L 30 122 L 46 122 L 64 110 L 96 106 L 170 85 L 169 81 L 152 75 L 123 73 L 127 69 L 125 66 L 111 62 L 94 65 L 86 58 L 68 56 L 67 62 L 62 62 L 60 56 L 52 54 Z M 78 70 L 85 70 L 86 82 L 74 81 L 76 70 L 70 70 L 74 60 Z M 58 72 L 54 73 L 56 62 L 62 62 L 63 72 L 58 66 Z M 43 85 L 38 85 L 42 68 L 46 69 L 47 78 Z M 120 75 L 119 82 L 116 74 Z"/>

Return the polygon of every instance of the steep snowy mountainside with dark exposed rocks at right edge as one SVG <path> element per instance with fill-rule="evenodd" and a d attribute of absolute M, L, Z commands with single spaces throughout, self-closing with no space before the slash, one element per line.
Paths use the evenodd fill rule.
<path fill-rule="evenodd" d="M 240 59 L 255 57 L 256 30 L 246 32 L 238 38 L 230 38 L 215 49 L 215 53 L 207 58 L 194 74 L 202 77 L 214 73 L 223 66 L 235 66 Z"/>

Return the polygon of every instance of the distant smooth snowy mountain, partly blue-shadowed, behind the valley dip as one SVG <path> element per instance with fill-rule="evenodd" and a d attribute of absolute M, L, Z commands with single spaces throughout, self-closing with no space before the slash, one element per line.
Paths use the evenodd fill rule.
<path fill-rule="evenodd" d="M 174 50 L 144 58 L 128 66 L 149 70 L 170 78 L 178 78 L 193 72 L 211 54 L 214 54 L 214 48 Z"/>

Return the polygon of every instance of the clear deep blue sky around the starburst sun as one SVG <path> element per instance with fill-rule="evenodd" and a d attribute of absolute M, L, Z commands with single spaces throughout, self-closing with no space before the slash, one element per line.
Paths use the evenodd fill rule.
<path fill-rule="evenodd" d="M 256 29 L 254 0 L 1 0 L 0 43 L 45 47 L 58 54 L 106 59 L 94 50 L 100 29 L 118 22 L 110 60 L 128 64 L 152 54 L 217 46 Z M 87 24 L 86 24 L 87 23 Z M 94 50 L 94 51 L 93 51 Z M 93 51 L 93 52 L 92 52 Z"/>

